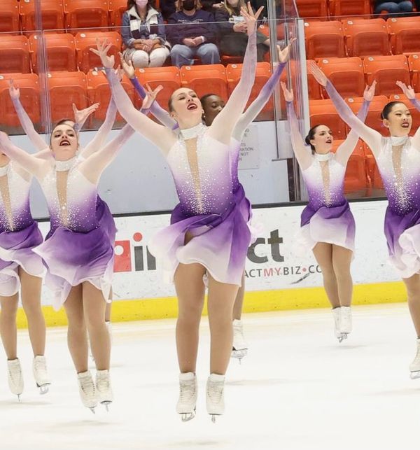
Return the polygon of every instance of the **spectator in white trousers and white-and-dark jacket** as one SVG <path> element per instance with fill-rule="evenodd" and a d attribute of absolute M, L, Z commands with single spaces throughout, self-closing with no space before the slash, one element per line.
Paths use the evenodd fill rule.
<path fill-rule="evenodd" d="M 162 15 L 154 0 L 128 0 L 121 36 L 127 47 L 124 59 L 134 67 L 160 67 L 169 56 Z"/>

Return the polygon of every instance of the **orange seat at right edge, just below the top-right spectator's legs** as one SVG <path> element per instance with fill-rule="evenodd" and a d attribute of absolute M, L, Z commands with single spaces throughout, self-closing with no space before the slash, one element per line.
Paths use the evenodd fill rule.
<path fill-rule="evenodd" d="M 420 52 L 420 17 L 392 17 L 386 21 L 394 55 Z"/>

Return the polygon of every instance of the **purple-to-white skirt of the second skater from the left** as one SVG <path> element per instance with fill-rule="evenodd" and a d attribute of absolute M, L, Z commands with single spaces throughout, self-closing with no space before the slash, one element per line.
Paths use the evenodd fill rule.
<path fill-rule="evenodd" d="M 71 288 L 83 281 L 102 290 L 104 299 L 110 302 L 114 253 L 103 227 L 86 233 L 58 227 L 50 230 L 43 244 L 34 251 L 47 267 L 45 284 L 54 293 L 52 306 L 56 310 L 66 301 Z"/>

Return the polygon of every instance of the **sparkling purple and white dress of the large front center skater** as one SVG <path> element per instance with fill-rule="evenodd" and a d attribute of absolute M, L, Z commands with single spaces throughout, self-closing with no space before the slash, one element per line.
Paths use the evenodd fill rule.
<path fill-rule="evenodd" d="M 196 143 L 197 166 L 190 166 L 188 150 Z M 251 232 L 244 190 L 234 191 L 230 146 L 208 134 L 205 125 L 179 132 L 167 155 L 179 204 L 171 225 L 149 244 L 165 279 L 172 281 L 179 263 L 200 263 L 217 281 L 241 286 Z M 194 239 L 185 244 L 186 234 Z"/>

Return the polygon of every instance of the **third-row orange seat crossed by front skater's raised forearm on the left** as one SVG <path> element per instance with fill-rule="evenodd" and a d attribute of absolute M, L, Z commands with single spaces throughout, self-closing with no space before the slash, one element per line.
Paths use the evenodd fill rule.
<path fill-rule="evenodd" d="M 99 108 L 91 116 L 91 127 L 95 128 L 101 125 L 106 116 L 109 100 L 111 99 L 111 89 L 104 71 L 91 70 L 87 72 L 87 97 L 90 104 L 99 103 Z M 134 87 L 127 76 L 123 76 L 121 83 L 125 92 L 134 102 Z M 117 113 L 116 118 L 118 125 L 123 122 L 123 118 Z"/>

